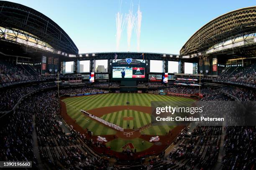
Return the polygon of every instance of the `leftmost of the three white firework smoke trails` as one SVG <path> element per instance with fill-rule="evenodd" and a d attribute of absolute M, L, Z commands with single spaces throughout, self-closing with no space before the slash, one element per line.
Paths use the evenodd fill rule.
<path fill-rule="evenodd" d="M 116 22 L 116 50 L 119 51 L 119 45 L 120 45 L 120 39 L 123 32 L 123 26 L 124 26 L 124 19 L 123 14 L 118 12 L 115 15 L 115 22 Z"/>

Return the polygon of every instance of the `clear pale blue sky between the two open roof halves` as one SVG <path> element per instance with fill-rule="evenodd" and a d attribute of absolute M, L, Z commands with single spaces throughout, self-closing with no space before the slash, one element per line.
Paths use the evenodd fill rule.
<path fill-rule="evenodd" d="M 31 7 L 57 23 L 77 45 L 87 52 L 160 52 L 179 54 L 187 40 L 203 25 L 220 15 L 255 0 L 10 0 Z M 122 2 L 122 3 L 121 3 Z M 140 50 L 133 29 L 128 49 L 124 28 L 116 49 L 116 13 L 142 13 Z"/>

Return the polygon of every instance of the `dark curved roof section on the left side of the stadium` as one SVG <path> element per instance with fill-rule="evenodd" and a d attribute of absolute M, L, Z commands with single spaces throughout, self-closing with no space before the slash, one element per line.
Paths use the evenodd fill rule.
<path fill-rule="evenodd" d="M 54 50 L 78 54 L 77 46 L 59 25 L 30 7 L 0 1 L 0 27 L 14 30 L 14 34 L 29 34 L 29 37 L 46 42 Z"/>

